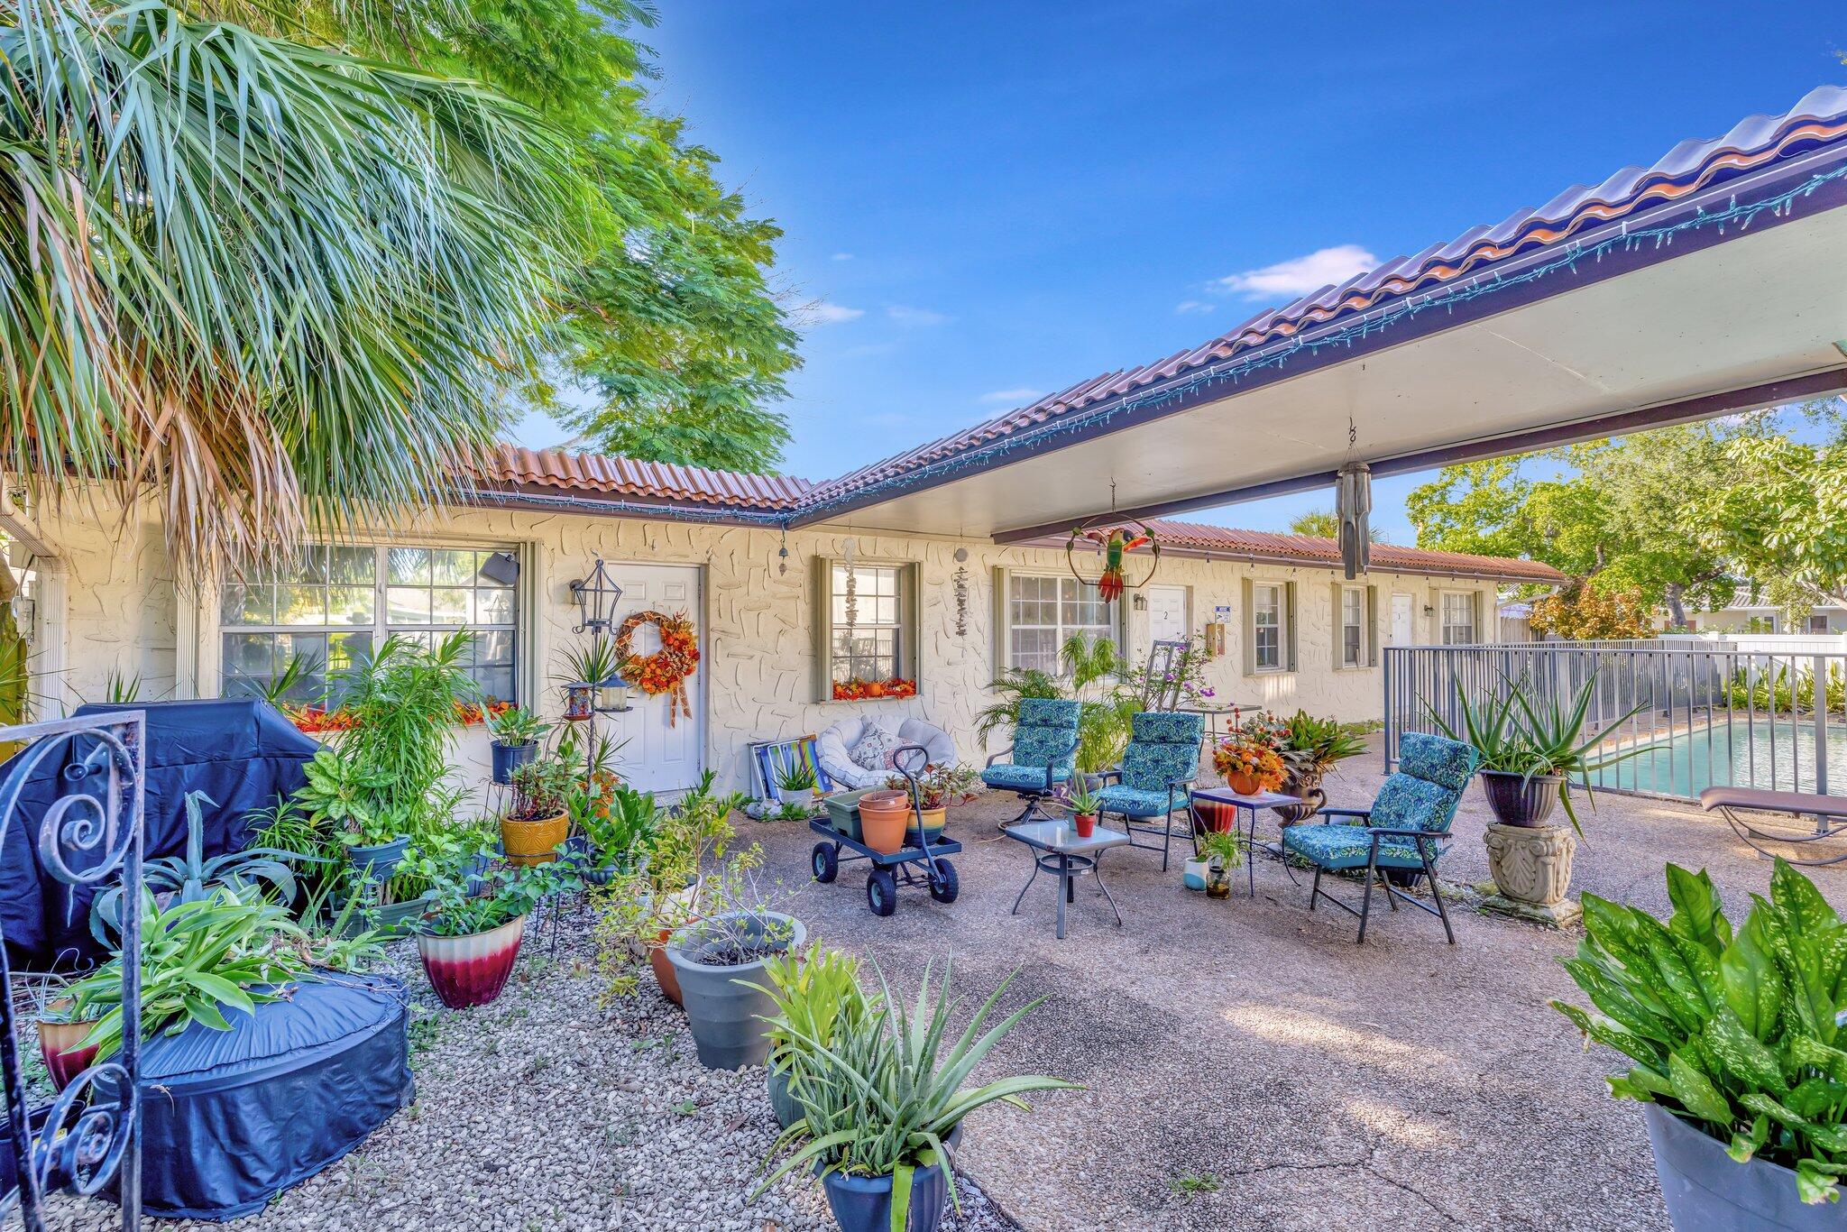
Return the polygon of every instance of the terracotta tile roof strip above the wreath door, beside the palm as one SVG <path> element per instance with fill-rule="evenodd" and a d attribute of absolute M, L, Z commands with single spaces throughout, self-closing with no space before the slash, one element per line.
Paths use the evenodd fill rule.
<path fill-rule="evenodd" d="M 789 475 L 746 475 L 702 465 L 637 462 L 565 449 L 521 449 L 499 443 L 464 467 L 488 484 L 561 488 L 643 501 L 682 501 L 748 510 L 794 508 L 815 484 Z"/>

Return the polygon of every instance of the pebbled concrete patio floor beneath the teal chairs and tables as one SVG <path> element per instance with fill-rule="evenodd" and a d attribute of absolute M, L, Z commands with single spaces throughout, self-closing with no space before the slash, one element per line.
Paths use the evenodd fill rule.
<path fill-rule="evenodd" d="M 1350 761 L 1330 802 L 1367 803 L 1380 778 L 1376 755 Z M 744 835 L 765 844 L 809 933 L 877 959 L 894 984 L 953 955 L 964 994 L 1018 966 L 1007 1005 L 1045 997 L 990 1068 L 1088 1090 L 1031 1116 L 984 1112 L 964 1143 L 970 1175 L 1025 1226 L 1668 1226 L 1640 1110 L 1605 1093 L 1616 1057 L 1583 1051 L 1546 1007 L 1579 999 L 1557 964 L 1577 933 L 1463 907 L 1452 948 L 1435 918 L 1376 900 L 1361 948 L 1356 922 L 1310 914 L 1306 877 L 1291 883 L 1276 861 L 1260 859 L 1256 900 L 1239 877 L 1230 901 L 1212 901 L 1180 887 L 1178 859 L 1162 874 L 1158 852 L 1116 850 L 1103 868 L 1123 927 L 1080 881 L 1055 940 L 1047 877 L 1008 914 L 1031 872 L 994 829 L 1014 811 L 1010 796 L 959 809 L 960 900 L 901 890 L 885 920 L 866 911 L 864 864 L 835 885 L 807 879 L 807 829 Z M 1672 859 L 1708 868 L 1742 920 L 1768 883 L 1769 864 L 1694 807 L 1605 794 L 1583 818 L 1574 890 L 1662 911 Z M 1487 879 L 1485 824 L 1470 787 L 1446 877 Z M 1843 877 L 1817 872 L 1836 905 Z"/>

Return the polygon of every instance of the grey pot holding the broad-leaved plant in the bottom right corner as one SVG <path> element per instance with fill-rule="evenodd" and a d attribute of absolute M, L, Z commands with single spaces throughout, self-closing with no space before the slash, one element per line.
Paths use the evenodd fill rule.
<path fill-rule="evenodd" d="M 1795 1195 L 1795 1173 L 1781 1164 L 1740 1164 L 1725 1143 L 1660 1105 L 1642 1105 L 1655 1177 L 1673 1232 L 1821 1232 L 1841 1226 L 1834 1202 L 1808 1206 Z"/>

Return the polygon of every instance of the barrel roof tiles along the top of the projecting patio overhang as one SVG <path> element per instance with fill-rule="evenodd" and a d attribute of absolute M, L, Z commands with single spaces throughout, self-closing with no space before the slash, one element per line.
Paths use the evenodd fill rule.
<path fill-rule="evenodd" d="M 1690 192 L 1841 137 L 1847 137 L 1847 91 L 1830 85 L 1817 87 L 1781 116 L 1747 116 L 1723 137 L 1683 140 L 1653 166 L 1625 166 L 1594 187 L 1574 185 L 1539 209 L 1516 211 L 1492 227 L 1472 227 L 1455 240 L 1426 248 L 1413 257 L 1394 257 L 1341 286 L 1322 286 L 1291 305 L 1260 312 L 1237 329 L 1199 347 L 1177 351 L 1141 368 L 1117 369 L 1080 380 L 986 423 L 859 467 L 816 486 L 809 499 L 826 501 L 857 491 L 1132 390 L 1289 338 L 1335 318 L 1363 312 L 1383 301 L 1430 290 L 1498 262 L 1561 244 L 1587 229 L 1646 214 L 1649 209 L 1668 205 Z"/>

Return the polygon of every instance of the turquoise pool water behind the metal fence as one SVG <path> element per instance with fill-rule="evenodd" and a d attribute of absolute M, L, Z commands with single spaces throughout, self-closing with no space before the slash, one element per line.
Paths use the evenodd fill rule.
<path fill-rule="evenodd" d="M 1830 717 L 1829 792 L 1847 796 L 1847 724 Z M 1694 798 L 1712 785 L 1816 791 L 1816 728 L 1808 719 L 1716 722 L 1590 776 L 1594 787 Z"/>

